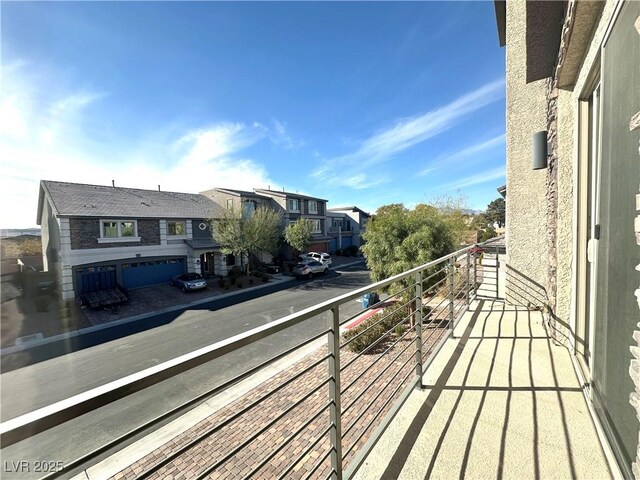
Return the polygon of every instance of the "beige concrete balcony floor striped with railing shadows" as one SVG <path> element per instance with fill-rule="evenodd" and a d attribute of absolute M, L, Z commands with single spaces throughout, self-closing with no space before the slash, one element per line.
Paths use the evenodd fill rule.
<path fill-rule="evenodd" d="M 454 333 L 355 478 L 611 478 L 540 312 L 480 300 Z"/>

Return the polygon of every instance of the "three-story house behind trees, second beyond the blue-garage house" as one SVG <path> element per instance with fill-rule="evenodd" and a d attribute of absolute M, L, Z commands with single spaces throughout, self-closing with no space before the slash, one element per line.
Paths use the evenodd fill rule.
<path fill-rule="evenodd" d="M 305 218 L 314 225 L 313 238 L 309 250 L 328 252 L 331 238 L 327 234 L 327 200 L 300 195 L 299 193 L 278 192 L 276 190 L 255 188 L 254 192 L 268 197 L 275 203 L 274 208 L 282 213 L 283 226 Z"/>

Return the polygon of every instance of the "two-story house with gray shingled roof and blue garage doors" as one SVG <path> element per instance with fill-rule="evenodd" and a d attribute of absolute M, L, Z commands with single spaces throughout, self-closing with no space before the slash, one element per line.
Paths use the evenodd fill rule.
<path fill-rule="evenodd" d="M 198 194 L 43 180 L 37 223 L 44 269 L 55 272 L 65 300 L 100 275 L 137 288 L 184 272 L 225 274 L 206 221 L 219 208 Z"/>

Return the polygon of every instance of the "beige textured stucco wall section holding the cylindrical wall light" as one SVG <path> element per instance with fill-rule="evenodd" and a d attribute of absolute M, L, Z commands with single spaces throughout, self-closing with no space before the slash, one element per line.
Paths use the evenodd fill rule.
<path fill-rule="evenodd" d="M 526 83 L 526 4 L 507 2 L 507 300 L 543 303 L 546 285 L 546 171 L 531 169 L 531 138 L 545 130 L 546 82 Z M 537 285 L 536 285 L 537 284 Z"/>

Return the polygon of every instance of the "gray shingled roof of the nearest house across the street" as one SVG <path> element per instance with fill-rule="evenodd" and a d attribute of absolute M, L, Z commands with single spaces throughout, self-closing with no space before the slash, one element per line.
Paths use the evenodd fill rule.
<path fill-rule="evenodd" d="M 210 198 L 179 192 L 80 183 L 40 182 L 58 216 L 211 218 L 219 210 Z M 42 192 L 41 192 L 42 194 Z"/>

